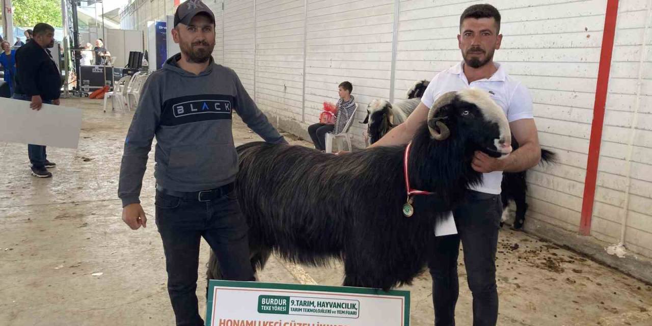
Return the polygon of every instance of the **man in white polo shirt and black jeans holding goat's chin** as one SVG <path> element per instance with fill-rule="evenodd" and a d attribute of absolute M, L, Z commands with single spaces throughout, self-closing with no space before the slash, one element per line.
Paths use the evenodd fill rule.
<path fill-rule="evenodd" d="M 494 51 L 500 48 L 500 14 L 491 5 L 473 5 L 460 17 L 459 48 L 464 61 L 439 72 L 421 104 L 402 125 L 372 145 L 390 146 L 408 143 L 428 117 L 437 97 L 449 91 L 469 87 L 485 89 L 503 108 L 509 126 L 520 147 L 498 160 L 475 153 L 473 170 L 484 173 L 482 184 L 467 191 L 464 203 L 453 211 L 458 234 L 434 237 L 430 259 L 433 278 L 432 299 L 435 325 L 455 325 L 455 304 L 459 284 L 457 259 L 460 240 L 464 248 L 467 282 L 473 293 L 473 325 L 496 325 L 498 293 L 496 289 L 496 246 L 502 214 L 500 200 L 503 171 L 524 171 L 541 158 L 541 148 L 532 113 L 532 98 L 527 88 L 494 63 Z"/>

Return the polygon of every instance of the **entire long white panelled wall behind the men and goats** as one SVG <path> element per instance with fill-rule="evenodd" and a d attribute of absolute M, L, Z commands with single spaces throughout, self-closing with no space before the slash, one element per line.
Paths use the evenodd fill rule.
<path fill-rule="evenodd" d="M 491 1 L 503 16 L 503 46 L 495 59 L 529 87 L 541 145 L 559 155 L 559 164 L 529 172 L 531 231 L 543 224 L 578 231 L 606 1 Z M 652 258 L 651 1 L 619 1 L 592 235 L 617 242 L 627 213 L 627 246 Z M 415 81 L 458 63 L 460 14 L 485 2 L 224 0 L 222 21 L 222 1 L 205 1 L 218 20 L 216 61 L 239 74 L 263 111 L 289 121 L 299 134 L 318 121 L 325 100 L 337 99 L 344 80 L 353 83 L 361 121 L 372 98 L 389 98 L 392 91 L 404 98 Z M 138 19 L 123 20 L 139 25 L 145 15 L 138 13 Z M 351 132 L 363 147 L 365 126 L 357 121 Z"/>

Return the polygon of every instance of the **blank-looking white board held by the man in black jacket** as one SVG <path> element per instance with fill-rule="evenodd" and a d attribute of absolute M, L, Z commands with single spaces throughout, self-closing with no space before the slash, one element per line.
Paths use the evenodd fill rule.
<path fill-rule="evenodd" d="M 38 111 L 30 102 L 0 98 L 0 141 L 77 148 L 82 110 L 43 104 Z"/>

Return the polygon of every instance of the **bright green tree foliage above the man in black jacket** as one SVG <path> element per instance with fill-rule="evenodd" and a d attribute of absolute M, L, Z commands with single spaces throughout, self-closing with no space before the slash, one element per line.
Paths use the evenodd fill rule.
<path fill-rule="evenodd" d="M 49 23 L 61 27 L 61 0 L 12 0 L 14 26 L 33 27 Z"/>

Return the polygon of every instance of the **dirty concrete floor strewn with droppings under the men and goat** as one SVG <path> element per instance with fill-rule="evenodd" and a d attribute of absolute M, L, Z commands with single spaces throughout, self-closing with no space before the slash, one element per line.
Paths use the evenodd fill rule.
<path fill-rule="evenodd" d="M 102 113 L 100 100 L 62 104 L 84 109 L 82 139 L 76 150 L 48 149 L 57 163 L 52 179 L 30 175 L 26 145 L 0 143 L 0 325 L 173 325 L 153 221 L 153 155 L 141 197 L 149 228 L 132 231 L 121 220 L 117 179 L 132 113 Z M 233 134 L 238 144 L 259 139 L 239 120 Z M 207 257 L 202 243 L 200 275 Z M 497 266 L 499 325 L 652 325 L 650 286 L 554 244 L 505 228 Z M 312 268 L 272 259 L 259 276 L 342 282 L 336 263 Z M 200 280 L 200 301 L 204 287 Z M 430 275 L 404 289 L 411 291 L 412 325 L 432 325 Z M 461 258 L 456 311 L 458 325 L 471 325 Z"/>

